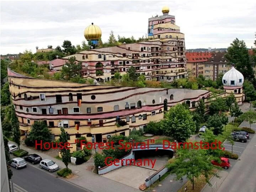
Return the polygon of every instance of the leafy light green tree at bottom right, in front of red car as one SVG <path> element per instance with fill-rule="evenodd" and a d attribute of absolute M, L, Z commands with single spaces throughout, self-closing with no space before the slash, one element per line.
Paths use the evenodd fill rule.
<path fill-rule="evenodd" d="M 203 149 L 180 149 L 177 150 L 178 158 L 171 164 L 168 164 L 172 174 L 175 174 L 175 180 L 183 181 L 186 176 L 191 181 L 194 190 L 195 178 L 204 175 L 206 182 L 209 183 L 209 176 L 212 174 L 214 165 L 211 164 L 207 150 Z M 217 174 L 214 173 L 218 177 Z"/>

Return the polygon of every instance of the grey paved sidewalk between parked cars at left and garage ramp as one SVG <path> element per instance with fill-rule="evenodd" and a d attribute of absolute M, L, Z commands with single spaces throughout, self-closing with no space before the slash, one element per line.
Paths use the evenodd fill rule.
<path fill-rule="evenodd" d="M 9 142 L 9 143 L 14 143 L 14 142 Z M 65 167 L 64 163 L 61 160 L 55 159 L 51 156 L 41 153 L 41 151 L 39 151 L 39 150 L 33 150 L 31 148 L 28 148 L 25 145 L 20 145 L 20 148 L 27 150 L 29 154 L 36 153 L 36 154 L 40 155 L 43 159 L 50 159 L 50 160 L 55 161 L 61 169 Z M 80 187 L 86 188 L 87 190 L 90 190 L 93 192 L 103 192 L 103 191 L 139 192 L 140 191 L 133 187 L 124 185 L 122 183 L 110 180 L 105 177 L 101 177 L 101 176 L 91 172 L 91 170 L 89 171 L 88 167 L 90 167 L 92 163 L 93 163 L 93 158 L 91 158 L 88 162 L 81 164 L 81 165 L 69 164 L 69 166 L 68 166 L 69 169 L 71 169 L 73 174 L 77 175 L 78 177 L 68 179 L 67 181 L 69 181 L 75 185 L 78 185 Z M 54 172 L 54 174 L 57 175 L 56 172 Z"/>

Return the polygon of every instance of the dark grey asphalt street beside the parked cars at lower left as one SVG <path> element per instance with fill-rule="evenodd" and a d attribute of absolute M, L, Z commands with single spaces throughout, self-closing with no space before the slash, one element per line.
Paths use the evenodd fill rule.
<path fill-rule="evenodd" d="M 14 167 L 11 169 L 13 171 L 12 182 L 28 192 L 89 192 L 63 181 L 53 174 L 37 169 L 29 162 L 23 169 L 16 170 Z"/>

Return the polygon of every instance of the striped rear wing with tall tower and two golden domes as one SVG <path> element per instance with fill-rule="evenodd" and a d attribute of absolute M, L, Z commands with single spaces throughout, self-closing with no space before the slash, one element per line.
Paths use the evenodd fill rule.
<path fill-rule="evenodd" d="M 137 74 L 144 74 L 147 80 L 172 81 L 185 78 L 186 55 L 184 34 L 175 25 L 175 17 L 168 15 L 166 7 L 164 15 L 149 18 L 149 41 L 121 46 L 94 49 L 97 47 L 101 30 L 98 26 L 86 27 L 85 38 L 93 43 L 91 50 L 85 50 L 68 57 L 51 61 L 57 71 L 62 69 L 68 58 L 75 57 L 82 62 L 82 76 L 97 81 L 110 81 L 117 71 L 126 74 L 130 66 L 136 68 Z M 51 65 L 51 64 L 50 64 Z"/>

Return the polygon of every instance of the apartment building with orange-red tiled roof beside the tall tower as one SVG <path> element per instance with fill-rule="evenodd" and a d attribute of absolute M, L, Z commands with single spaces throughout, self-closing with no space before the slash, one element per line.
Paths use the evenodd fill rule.
<path fill-rule="evenodd" d="M 187 70 L 191 71 L 191 76 L 198 77 L 204 75 L 204 63 L 211 57 L 210 52 L 186 52 Z"/>

